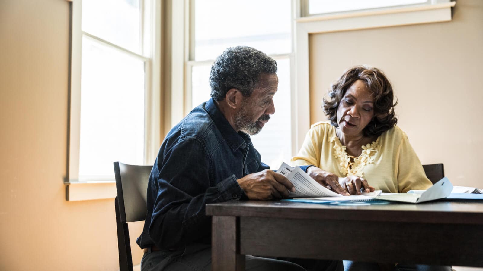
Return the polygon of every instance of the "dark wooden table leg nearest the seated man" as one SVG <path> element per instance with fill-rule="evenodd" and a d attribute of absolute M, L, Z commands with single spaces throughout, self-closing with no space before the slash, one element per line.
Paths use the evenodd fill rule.
<path fill-rule="evenodd" d="M 240 222 L 237 217 L 213 216 L 212 271 L 244 271 L 240 254 Z"/>

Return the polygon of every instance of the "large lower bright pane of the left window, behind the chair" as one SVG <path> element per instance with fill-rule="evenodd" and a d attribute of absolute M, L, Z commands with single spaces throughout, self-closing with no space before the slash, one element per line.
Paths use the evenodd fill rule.
<path fill-rule="evenodd" d="M 113 162 L 143 164 L 144 61 L 82 39 L 79 177 L 113 176 Z"/>

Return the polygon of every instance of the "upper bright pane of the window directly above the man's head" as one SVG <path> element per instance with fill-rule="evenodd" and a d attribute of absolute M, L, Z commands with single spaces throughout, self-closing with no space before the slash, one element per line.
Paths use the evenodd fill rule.
<path fill-rule="evenodd" d="M 292 50 L 290 0 L 195 0 L 195 60 L 246 45 L 266 54 Z"/>

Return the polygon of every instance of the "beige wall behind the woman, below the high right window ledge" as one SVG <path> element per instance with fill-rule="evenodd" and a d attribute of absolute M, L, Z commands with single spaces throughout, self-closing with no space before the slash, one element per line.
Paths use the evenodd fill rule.
<path fill-rule="evenodd" d="M 458 0 L 450 22 L 313 34 L 309 46 L 311 123 L 325 120 L 322 97 L 344 69 L 381 68 L 421 162 L 444 163 L 454 184 L 483 187 L 482 0 Z"/>

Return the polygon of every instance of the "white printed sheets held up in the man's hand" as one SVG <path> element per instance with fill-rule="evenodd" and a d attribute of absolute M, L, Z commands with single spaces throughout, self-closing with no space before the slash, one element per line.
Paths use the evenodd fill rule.
<path fill-rule="evenodd" d="M 298 166 L 291 167 L 282 163 L 277 172 L 287 177 L 295 187 L 295 192 L 288 191 L 289 197 L 343 197 L 341 194 L 321 186 Z"/>

